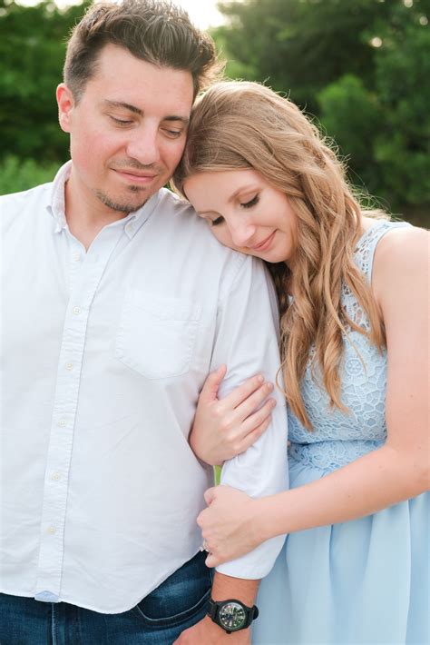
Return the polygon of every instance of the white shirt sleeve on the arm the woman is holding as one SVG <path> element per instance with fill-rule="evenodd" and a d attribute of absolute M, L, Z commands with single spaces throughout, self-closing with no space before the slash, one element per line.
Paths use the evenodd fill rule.
<path fill-rule="evenodd" d="M 279 312 L 273 284 L 264 265 L 248 257 L 239 268 L 219 313 L 212 368 L 227 365 L 220 398 L 250 376 L 262 373 L 275 382 L 279 371 Z M 279 375 L 279 383 L 283 385 Z M 269 429 L 246 452 L 226 461 L 221 484 L 257 498 L 288 488 L 287 412 L 284 396 L 275 387 L 277 405 Z M 217 571 L 235 578 L 257 580 L 271 570 L 285 536 L 263 542 Z"/>

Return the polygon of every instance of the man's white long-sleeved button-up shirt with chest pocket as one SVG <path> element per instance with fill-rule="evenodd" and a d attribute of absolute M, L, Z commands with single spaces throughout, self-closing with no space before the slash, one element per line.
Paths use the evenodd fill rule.
<path fill-rule="evenodd" d="M 167 190 L 85 251 L 53 184 L 1 198 L 1 584 L 105 613 L 131 609 L 199 551 L 212 472 L 188 443 L 200 389 L 279 368 L 273 289 Z M 222 481 L 286 487 L 286 413 Z M 267 574 L 282 538 L 220 567 Z"/>

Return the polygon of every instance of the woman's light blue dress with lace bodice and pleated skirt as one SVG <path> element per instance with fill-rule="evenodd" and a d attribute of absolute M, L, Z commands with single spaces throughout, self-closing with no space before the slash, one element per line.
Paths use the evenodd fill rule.
<path fill-rule="evenodd" d="M 376 244 L 406 223 L 377 221 L 357 244 L 356 263 L 370 282 Z M 425 297 L 425 294 L 422 294 Z M 348 315 L 368 329 L 344 288 Z M 345 340 L 342 401 L 330 412 L 327 393 L 311 378 L 303 397 L 314 432 L 288 412 L 290 486 L 315 481 L 386 441 L 386 353 L 350 332 L 365 366 Z M 291 533 L 261 582 L 255 645 L 425 645 L 429 642 L 430 495 L 356 521 Z"/>

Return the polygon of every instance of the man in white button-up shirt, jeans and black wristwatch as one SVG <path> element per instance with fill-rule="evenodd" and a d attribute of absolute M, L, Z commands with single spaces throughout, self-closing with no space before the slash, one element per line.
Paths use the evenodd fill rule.
<path fill-rule="evenodd" d="M 2 198 L 5 645 L 249 643 L 282 540 L 221 567 L 210 591 L 196 517 L 211 472 L 187 439 L 221 363 L 224 391 L 273 379 L 276 312 L 262 266 L 162 188 L 214 66 L 170 3 L 93 5 L 57 89 L 72 160 Z M 223 481 L 284 487 L 282 405 L 273 419 Z M 210 593 L 238 600 L 244 629 L 206 615 Z"/>

